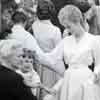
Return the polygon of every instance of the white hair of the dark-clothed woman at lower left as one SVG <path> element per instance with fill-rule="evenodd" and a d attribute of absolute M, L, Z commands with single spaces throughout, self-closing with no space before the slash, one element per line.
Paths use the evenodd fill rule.
<path fill-rule="evenodd" d="M 10 55 L 17 53 L 18 49 L 22 48 L 21 42 L 14 39 L 0 41 L 0 58 L 10 59 Z"/>

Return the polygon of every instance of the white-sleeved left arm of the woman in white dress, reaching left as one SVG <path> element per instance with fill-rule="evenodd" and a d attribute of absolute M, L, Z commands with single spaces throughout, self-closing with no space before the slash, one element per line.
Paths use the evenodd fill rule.
<path fill-rule="evenodd" d="M 40 64 L 46 65 L 47 68 L 62 74 L 65 71 L 63 63 L 63 45 L 63 41 L 61 41 L 50 53 L 37 51 Z M 61 64 L 61 66 L 58 66 L 59 64 Z"/>

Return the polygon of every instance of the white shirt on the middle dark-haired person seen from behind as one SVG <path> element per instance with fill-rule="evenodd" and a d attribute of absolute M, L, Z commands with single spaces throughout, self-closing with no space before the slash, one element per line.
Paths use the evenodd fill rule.
<path fill-rule="evenodd" d="M 61 41 L 60 29 L 50 20 L 36 20 L 32 29 L 41 49 L 50 52 Z"/>

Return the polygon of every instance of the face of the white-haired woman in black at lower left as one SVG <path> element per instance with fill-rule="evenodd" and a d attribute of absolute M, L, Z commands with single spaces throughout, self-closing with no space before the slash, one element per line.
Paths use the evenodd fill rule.
<path fill-rule="evenodd" d="M 11 56 L 13 67 L 19 68 L 23 72 L 31 71 L 33 68 L 33 58 L 30 54 L 25 53 L 22 49 L 14 52 Z"/>

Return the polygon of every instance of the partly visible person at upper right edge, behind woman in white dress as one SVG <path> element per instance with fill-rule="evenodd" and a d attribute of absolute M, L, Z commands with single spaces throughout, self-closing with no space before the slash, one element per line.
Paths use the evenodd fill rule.
<path fill-rule="evenodd" d="M 100 34 L 100 6 L 95 0 L 89 0 L 91 8 L 85 13 L 85 18 L 89 22 L 89 32 L 95 35 Z"/>

